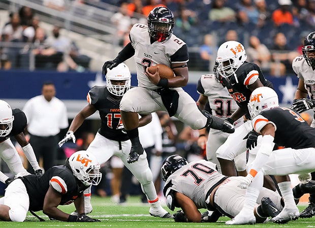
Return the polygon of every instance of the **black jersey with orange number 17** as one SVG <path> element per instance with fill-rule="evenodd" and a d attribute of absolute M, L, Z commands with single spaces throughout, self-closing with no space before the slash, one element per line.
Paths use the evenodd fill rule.
<path fill-rule="evenodd" d="M 121 98 L 122 96 L 112 95 L 106 86 L 94 86 L 87 94 L 88 103 L 92 104 L 100 114 L 101 128 L 98 132 L 110 140 L 129 139 L 123 129 L 118 129 L 118 126 L 122 126 L 119 109 Z"/>

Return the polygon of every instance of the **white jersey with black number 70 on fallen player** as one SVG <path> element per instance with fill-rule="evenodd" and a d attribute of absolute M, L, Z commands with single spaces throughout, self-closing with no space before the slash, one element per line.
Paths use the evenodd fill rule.
<path fill-rule="evenodd" d="M 167 178 L 163 188 L 164 196 L 167 198 L 175 191 L 192 199 L 198 209 L 207 208 L 207 193 L 228 178 L 217 172 L 215 166 L 212 162 L 200 160 L 181 167 Z"/>

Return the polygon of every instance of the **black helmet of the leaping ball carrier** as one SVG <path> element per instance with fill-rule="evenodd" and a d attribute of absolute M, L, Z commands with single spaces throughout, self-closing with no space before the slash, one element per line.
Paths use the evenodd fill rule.
<path fill-rule="evenodd" d="M 173 13 L 166 7 L 155 7 L 148 16 L 148 31 L 158 42 L 170 39 L 174 28 Z"/>

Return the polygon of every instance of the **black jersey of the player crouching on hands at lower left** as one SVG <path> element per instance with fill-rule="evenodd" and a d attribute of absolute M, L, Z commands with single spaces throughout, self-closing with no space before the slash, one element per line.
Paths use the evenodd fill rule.
<path fill-rule="evenodd" d="M 53 166 L 41 177 L 27 175 L 19 178 L 26 187 L 31 211 L 43 210 L 44 199 L 50 185 L 62 194 L 59 205 L 71 204 L 88 188 L 74 177 L 72 170 L 66 165 Z"/>

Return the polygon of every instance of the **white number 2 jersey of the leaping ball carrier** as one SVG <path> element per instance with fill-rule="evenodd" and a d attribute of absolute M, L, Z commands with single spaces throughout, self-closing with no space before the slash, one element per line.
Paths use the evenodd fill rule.
<path fill-rule="evenodd" d="M 148 26 L 144 24 L 135 24 L 130 30 L 131 44 L 135 49 L 135 62 L 137 69 L 138 86 L 149 89 L 157 89 L 145 75 L 146 67 L 164 64 L 171 66 L 171 63 L 188 62 L 188 53 L 173 56 L 185 44 L 182 40 L 171 35 L 169 40 L 164 42 L 150 43 Z"/>

